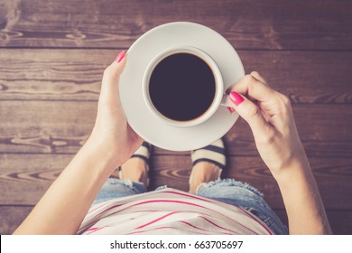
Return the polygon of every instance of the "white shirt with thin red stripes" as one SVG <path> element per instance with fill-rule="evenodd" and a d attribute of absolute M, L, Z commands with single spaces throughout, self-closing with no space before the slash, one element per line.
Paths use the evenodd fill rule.
<path fill-rule="evenodd" d="M 251 212 L 171 188 L 98 203 L 79 234 L 273 234 Z"/>

